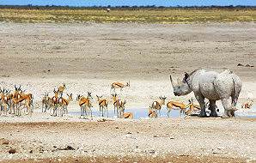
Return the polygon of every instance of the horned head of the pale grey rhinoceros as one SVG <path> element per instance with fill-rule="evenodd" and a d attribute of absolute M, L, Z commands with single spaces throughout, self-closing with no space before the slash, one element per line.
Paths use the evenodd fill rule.
<path fill-rule="evenodd" d="M 178 80 L 177 82 L 174 82 L 172 75 L 170 75 L 170 80 L 174 88 L 175 96 L 186 95 L 192 92 L 192 89 L 189 86 L 189 81 L 191 80 L 190 75 L 187 73 L 185 73 L 182 81 Z"/>

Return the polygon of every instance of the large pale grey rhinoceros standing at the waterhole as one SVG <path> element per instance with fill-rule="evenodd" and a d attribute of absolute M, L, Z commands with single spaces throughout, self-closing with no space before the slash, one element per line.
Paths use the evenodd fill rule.
<path fill-rule="evenodd" d="M 192 73 L 185 73 L 182 81 L 175 83 L 172 75 L 170 80 L 175 96 L 194 93 L 201 107 L 199 117 L 207 117 L 204 99 L 210 101 L 210 117 L 217 117 L 216 100 L 222 100 L 224 113 L 222 118 L 235 117 L 235 106 L 241 92 L 241 79 L 229 69 L 221 73 L 196 69 Z"/>

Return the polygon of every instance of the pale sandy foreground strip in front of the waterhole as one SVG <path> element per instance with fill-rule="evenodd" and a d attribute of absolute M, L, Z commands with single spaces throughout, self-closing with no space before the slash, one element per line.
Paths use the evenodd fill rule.
<path fill-rule="evenodd" d="M 86 123 L 85 123 L 86 122 Z M 212 156 L 255 160 L 255 119 L 159 118 L 0 125 L 1 160 Z M 8 154 L 15 148 L 16 154 Z M 65 160 L 65 159 L 63 159 Z M 228 159 L 229 160 L 229 159 Z"/>

